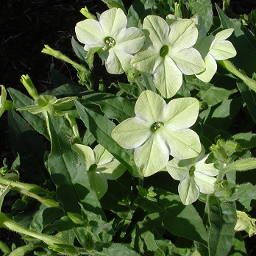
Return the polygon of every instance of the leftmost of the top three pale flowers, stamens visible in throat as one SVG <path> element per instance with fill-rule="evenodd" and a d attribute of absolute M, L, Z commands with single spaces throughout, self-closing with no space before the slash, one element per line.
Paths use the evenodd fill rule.
<path fill-rule="evenodd" d="M 127 71 L 132 54 L 141 49 L 145 40 L 140 29 L 127 28 L 127 16 L 118 8 L 106 10 L 99 21 L 87 19 L 78 22 L 75 31 L 77 39 L 85 43 L 87 57 L 97 51 L 110 74 Z"/>

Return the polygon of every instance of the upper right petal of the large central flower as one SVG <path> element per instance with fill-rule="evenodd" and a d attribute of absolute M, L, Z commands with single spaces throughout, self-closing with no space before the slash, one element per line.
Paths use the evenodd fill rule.
<path fill-rule="evenodd" d="M 163 123 L 171 129 L 185 129 L 196 122 L 199 101 L 196 98 L 179 98 L 169 102 L 163 110 Z"/>

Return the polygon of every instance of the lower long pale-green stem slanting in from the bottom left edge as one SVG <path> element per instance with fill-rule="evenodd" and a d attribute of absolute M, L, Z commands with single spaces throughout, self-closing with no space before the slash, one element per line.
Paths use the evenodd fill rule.
<path fill-rule="evenodd" d="M 43 235 L 38 232 L 34 232 L 32 230 L 28 230 L 24 227 L 21 227 L 21 225 L 19 225 L 15 221 L 12 221 L 10 218 L 7 218 L 7 216 L 5 216 L 5 214 L 1 212 L 0 212 L 0 227 L 4 227 L 9 230 L 13 230 L 14 232 L 22 233 L 24 235 L 29 235 L 32 238 L 39 239 L 49 245 L 54 245 L 54 243 L 64 243 L 64 241 L 61 240 L 60 238 L 55 238 L 54 236 L 51 236 L 51 235 Z"/>

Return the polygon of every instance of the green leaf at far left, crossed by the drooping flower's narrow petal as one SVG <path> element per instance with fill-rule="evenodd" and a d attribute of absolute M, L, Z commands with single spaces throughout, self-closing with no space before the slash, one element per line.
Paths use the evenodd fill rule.
<path fill-rule="evenodd" d="M 13 99 L 15 107 L 26 107 L 33 104 L 32 99 L 25 96 L 23 93 L 15 90 L 13 88 L 9 88 L 8 92 Z M 41 113 L 33 115 L 28 111 L 21 111 L 21 115 L 23 115 L 24 119 L 28 121 L 28 123 L 40 134 L 44 135 L 46 138 L 49 139 L 49 134 L 46 127 L 46 121 Z"/>

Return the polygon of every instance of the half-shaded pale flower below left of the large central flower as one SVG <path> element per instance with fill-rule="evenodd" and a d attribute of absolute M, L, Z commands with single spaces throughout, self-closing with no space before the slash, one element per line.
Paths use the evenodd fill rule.
<path fill-rule="evenodd" d="M 90 186 L 96 191 L 98 199 L 107 192 L 107 179 L 118 179 L 126 170 L 102 145 L 90 149 L 89 146 L 74 144 L 72 149 L 85 160 Z"/>

